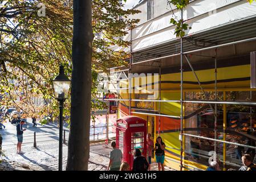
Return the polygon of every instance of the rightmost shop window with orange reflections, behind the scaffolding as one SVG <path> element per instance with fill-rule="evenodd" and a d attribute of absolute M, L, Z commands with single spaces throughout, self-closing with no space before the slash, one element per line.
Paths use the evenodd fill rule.
<path fill-rule="evenodd" d="M 241 92 L 232 95 L 235 99 L 247 98 L 246 93 L 242 96 Z M 256 142 L 256 108 L 255 106 L 245 105 L 227 105 L 227 129 L 226 140 L 247 146 L 255 146 Z M 253 148 L 241 147 L 235 144 L 227 144 L 226 158 L 227 162 L 234 167 L 239 168 L 242 154 L 249 153 L 255 160 L 255 150 Z"/>

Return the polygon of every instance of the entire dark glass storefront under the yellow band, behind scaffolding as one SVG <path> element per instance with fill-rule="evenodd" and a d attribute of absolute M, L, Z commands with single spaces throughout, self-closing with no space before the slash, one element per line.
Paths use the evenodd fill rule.
<path fill-rule="evenodd" d="M 209 100 L 214 100 L 215 98 L 214 92 L 206 92 L 206 95 L 208 95 Z M 256 92 L 252 91 L 218 92 L 217 100 L 224 101 L 224 95 L 226 101 L 256 101 Z M 206 100 L 206 97 L 204 97 L 202 92 L 185 92 L 185 100 Z M 209 104 L 185 103 L 185 133 L 255 146 L 255 106 L 217 105 L 216 133 L 214 130 L 214 108 L 214 104 L 210 107 Z M 215 142 L 215 144 L 213 140 L 186 136 L 185 159 L 209 166 L 209 160 L 212 160 L 214 154 L 216 154 L 221 169 L 224 164 L 224 156 L 226 158 L 226 169 L 238 169 L 242 163 L 242 154 L 249 153 L 254 158 L 254 163 L 256 162 L 255 150 L 253 148 L 241 147 L 235 144 L 224 144 L 223 142 Z"/>

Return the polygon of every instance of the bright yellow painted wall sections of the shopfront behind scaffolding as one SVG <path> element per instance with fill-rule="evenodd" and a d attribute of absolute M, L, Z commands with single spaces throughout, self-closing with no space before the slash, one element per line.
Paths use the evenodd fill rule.
<path fill-rule="evenodd" d="M 215 73 L 214 69 L 207 69 L 202 71 L 196 71 L 197 76 L 200 81 L 214 81 L 215 79 Z M 239 65 L 234 67 L 226 67 L 226 68 L 218 68 L 217 69 L 217 80 L 226 80 L 226 79 L 235 79 L 235 78 L 246 78 L 250 77 L 250 65 Z M 153 80 L 152 77 L 147 78 L 149 80 Z M 172 74 L 165 74 L 161 75 L 161 81 L 177 81 L 177 83 L 161 83 L 161 100 L 180 100 L 180 73 L 172 73 Z M 196 78 L 193 75 L 193 72 L 184 72 L 184 81 L 192 81 L 197 82 Z M 134 80 L 133 80 L 134 82 Z M 156 81 L 153 81 L 156 82 Z M 134 85 L 134 84 L 133 84 Z M 156 84 L 156 86 L 159 86 Z M 202 84 L 202 86 L 206 90 L 212 90 L 214 91 L 214 83 L 212 84 Z M 217 84 L 218 90 L 235 90 L 239 88 L 245 88 L 243 90 L 250 90 L 250 80 L 245 81 L 231 81 L 231 82 L 218 82 Z M 144 87 L 144 89 L 147 89 Z M 196 89 L 200 91 L 200 88 L 197 84 L 184 84 L 184 92 L 186 90 L 193 90 Z M 171 92 L 170 90 L 173 90 L 174 92 Z M 128 94 L 121 94 L 123 98 L 129 98 Z M 134 97 L 132 97 L 134 98 Z M 129 102 L 123 102 L 129 106 Z M 134 103 L 133 103 L 134 105 Z M 180 104 L 177 102 L 161 102 L 161 113 L 162 114 L 168 114 L 168 115 L 175 115 L 180 116 Z M 159 110 L 159 103 L 156 102 L 155 104 L 155 110 Z M 137 115 L 141 118 L 144 118 L 147 120 L 147 115 L 143 114 L 133 114 Z M 158 125 L 158 119 L 155 118 L 155 127 Z M 155 129 L 156 131 L 156 129 Z M 179 148 L 181 147 L 180 140 L 178 140 L 178 135 L 180 132 L 172 132 L 172 133 L 161 133 L 160 136 L 164 140 L 166 146 L 172 147 L 172 148 Z M 155 139 L 157 138 L 158 134 L 155 133 Z M 155 141 L 154 141 L 155 142 Z M 184 151 L 185 151 L 185 145 L 183 144 Z M 176 162 L 172 162 L 168 160 L 167 158 L 175 159 L 178 162 L 180 162 L 180 151 L 166 148 L 167 150 L 170 150 L 174 154 L 178 156 L 174 156 L 172 154 L 168 154 L 166 152 L 166 159 L 165 159 L 165 165 L 169 166 L 171 168 L 180 170 L 180 164 Z M 190 166 L 194 166 L 201 169 L 206 169 L 206 166 L 202 164 L 198 164 L 195 162 L 190 162 L 189 160 L 185 160 L 185 164 L 189 164 Z"/>

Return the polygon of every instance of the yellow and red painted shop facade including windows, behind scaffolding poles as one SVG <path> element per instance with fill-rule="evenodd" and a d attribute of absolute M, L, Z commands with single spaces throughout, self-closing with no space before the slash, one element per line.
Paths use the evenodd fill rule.
<path fill-rule="evenodd" d="M 224 63 L 225 61 L 222 61 Z M 256 92 L 253 91 L 253 89 L 250 89 L 250 64 L 247 64 L 248 60 L 240 60 L 238 61 L 238 64 L 235 64 L 235 61 L 231 61 L 231 64 L 221 65 L 218 64 L 217 69 L 217 80 L 218 80 L 218 100 L 234 100 L 234 101 L 256 101 Z M 210 93 L 210 100 L 214 99 L 214 69 L 208 68 L 207 65 L 202 65 L 201 69 L 197 67 L 196 64 L 195 68 L 196 73 L 198 75 L 198 78 L 200 81 L 202 81 L 203 88 L 206 89 L 206 92 Z M 205 67 L 206 66 L 206 67 Z M 169 73 L 168 73 L 169 71 Z M 180 73 L 178 73 L 178 69 L 175 72 L 172 72 L 170 69 L 163 72 L 163 75 L 161 75 L 161 100 L 180 100 Z M 148 80 L 152 80 L 149 78 Z M 133 80 L 134 81 L 134 80 Z M 157 84 L 156 81 L 152 80 L 152 82 L 155 82 L 155 85 Z M 134 85 L 134 84 L 133 84 Z M 141 82 L 140 82 L 141 86 Z M 142 87 L 143 89 L 147 90 L 146 86 Z M 220 94 L 221 93 L 221 94 Z M 146 94 L 141 92 L 141 94 Z M 225 96 L 224 96 L 225 94 Z M 251 96 L 250 96 L 251 94 Z M 193 95 L 193 96 L 192 96 Z M 121 94 L 123 98 L 128 98 L 127 94 Z M 184 72 L 184 97 L 186 100 L 205 100 L 204 97 L 202 97 L 202 92 L 196 82 L 196 79 L 194 78 L 194 75 L 192 71 L 186 70 Z M 134 96 L 132 98 L 135 98 Z M 157 99 L 157 98 L 156 98 Z M 124 102 L 123 102 L 124 103 Z M 125 104 L 127 106 L 125 107 Z M 126 102 L 123 105 L 123 108 L 126 108 L 125 111 L 128 112 L 128 103 Z M 155 102 L 155 110 L 159 110 L 159 102 Z M 132 102 L 132 106 L 136 107 L 136 104 Z M 161 111 L 160 114 L 165 115 L 174 115 L 174 116 L 180 116 L 180 104 L 177 102 L 161 102 L 160 104 Z M 214 105 L 213 105 L 214 107 Z M 225 109 L 224 109 L 225 107 Z M 200 108 L 202 108 L 200 110 Z M 248 114 L 250 114 L 250 106 L 234 106 L 234 105 L 218 105 L 217 110 L 221 114 L 218 115 L 217 123 L 218 123 L 218 139 L 220 137 L 224 137 L 223 130 L 227 129 L 227 134 L 225 135 L 224 139 L 230 140 L 232 138 L 239 138 L 239 143 L 242 143 L 242 140 L 244 140 L 241 136 L 245 133 L 245 130 L 249 129 L 250 127 L 245 127 L 245 123 L 251 122 L 251 127 L 256 128 L 256 110 L 254 107 L 251 107 L 251 112 L 253 113 L 253 117 L 248 117 Z M 119 107 L 119 109 L 121 109 Z M 146 108 L 145 108 L 146 109 Z M 137 110 L 136 110 L 137 111 Z M 229 111 L 229 112 L 227 112 Z M 139 111 L 138 112 L 142 112 Z M 147 113 L 147 111 L 144 111 Z M 185 130 L 185 133 L 187 134 L 194 134 L 194 135 L 202 135 L 206 137 L 213 136 L 212 130 L 213 130 L 213 123 L 214 123 L 214 117 L 210 114 L 210 106 L 207 104 L 184 104 L 184 114 L 186 116 L 186 119 L 184 119 L 184 126 L 185 129 L 188 129 L 188 131 Z M 148 111 L 148 113 L 150 113 Z M 231 113 L 231 114 L 230 114 Z M 156 112 L 156 114 L 159 114 Z M 137 115 L 139 117 L 142 117 L 144 119 L 147 119 L 147 114 L 132 114 Z M 238 126 L 235 128 L 233 123 L 230 124 L 230 122 L 234 121 L 235 119 L 237 122 L 239 122 Z M 204 120 L 206 119 L 206 120 Z M 159 134 L 159 120 L 160 120 L 160 136 L 164 140 L 166 144 L 166 159 L 165 159 L 165 165 L 168 165 L 169 167 L 175 168 L 179 170 L 178 162 L 180 161 L 180 147 L 181 143 L 178 139 L 178 135 L 180 134 L 180 119 L 175 118 L 169 118 L 169 117 L 155 117 L 155 138 L 157 138 Z M 205 123 L 205 121 L 207 121 Z M 205 129 L 205 126 L 207 125 L 208 128 Z M 235 133 L 235 129 L 242 130 L 241 135 L 239 133 Z M 243 131 L 244 130 L 244 131 Z M 253 135 L 247 135 L 249 136 L 249 139 L 253 139 Z M 211 138 L 211 137 L 210 137 Z M 204 158 L 202 156 L 210 156 L 212 155 L 210 153 L 210 144 L 205 143 L 211 143 L 210 140 L 203 140 L 202 146 L 204 148 L 201 148 L 201 156 L 200 159 L 192 159 L 193 153 L 192 153 L 192 144 L 190 143 L 192 140 L 191 137 L 184 137 L 184 143 L 183 146 L 185 148 L 185 163 L 194 166 L 196 168 L 205 169 L 208 166 L 208 160 L 207 158 Z M 251 140 L 255 142 L 255 140 Z M 217 154 L 220 156 L 220 160 L 224 160 L 224 154 L 226 161 L 229 163 L 233 163 L 234 165 L 239 164 L 240 160 L 235 159 L 235 153 L 230 149 L 229 144 L 223 144 L 223 143 L 217 143 Z M 195 155 L 197 156 L 197 155 Z M 171 159 L 171 160 L 169 160 Z M 176 162 L 173 162 L 172 160 L 176 160 Z M 227 166 L 227 168 L 237 168 L 237 166 Z M 222 166 L 221 163 L 221 169 L 227 169 Z"/>

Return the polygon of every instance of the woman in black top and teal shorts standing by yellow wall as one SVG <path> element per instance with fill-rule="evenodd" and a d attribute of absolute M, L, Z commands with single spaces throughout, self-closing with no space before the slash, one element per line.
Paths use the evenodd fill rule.
<path fill-rule="evenodd" d="M 156 151 L 156 162 L 159 167 L 159 171 L 164 171 L 164 149 L 165 143 L 162 142 L 161 137 L 157 137 L 156 144 L 155 144 L 155 151 Z"/>

